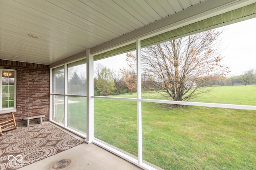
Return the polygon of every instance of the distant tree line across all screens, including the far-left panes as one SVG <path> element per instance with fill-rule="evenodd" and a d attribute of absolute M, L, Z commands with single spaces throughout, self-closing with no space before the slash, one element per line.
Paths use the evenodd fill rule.
<path fill-rule="evenodd" d="M 130 57 L 131 54 L 127 54 L 127 57 Z M 106 66 L 101 64 L 96 65 L 96 69 L 94 70 L 94 95 L 95 96 L 109 96 L 109 95 L 118 95 L 118 94 L 126 94 L 126 93 L 134 93 L 137 91 L 137 75 L 136 69 L 133 66 L 130 66 L 128 69 L 120 68 L 119 72 L 110 70 Z M 79 74 L 80 75 L 80 74 Z M 69 94 L 84 94 L 86 91 L 86 77 L 85 75 L 77 74 L 77 70 L 75 70 L 68 81 L 68 93 Z M 162 90 L 159 88 L 163 86 L 163 81 L 156 80 L 156 77 L 148 74 L 147 72 L 143 72 L 142 75 L 142 91 L 153 91 L 153 90 Z M 64 89 L 64 75 L 56 76 L 56 84 L 63 85 Z M 152 84 L 154 82 L 154 84 Z M 158 85 L 156 85 L 158 84 Z M 208 77 L 208 84 L 204 84 L 204 87 L 207 86 L 238 86 L 238 85 L 252 85 L 256 84 L 256 69 L 250 69 L 244 72 L 244 74 L 229 76 L 224 78 L 214 78 Z M 196 84 L 194 84 L 195 88 Z M 60 93 L 61 92 L 57 92 Z"/>

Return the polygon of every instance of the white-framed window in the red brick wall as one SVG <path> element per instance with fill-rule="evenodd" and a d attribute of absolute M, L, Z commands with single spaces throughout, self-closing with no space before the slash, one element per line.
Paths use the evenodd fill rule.
<path fill-rule="evenodd" d="M 16 111 L 16 70 L 0 68 L 0 113 Z"/>

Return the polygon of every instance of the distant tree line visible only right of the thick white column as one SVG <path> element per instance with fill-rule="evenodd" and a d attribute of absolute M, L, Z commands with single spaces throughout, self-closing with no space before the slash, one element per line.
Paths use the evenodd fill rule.
<path fill-rule="evenodd" d="M 120 72 L 111 71 L 110 68 L 100 65 L 94 78 L 94 95 L 109 96 L 126 93 L 134 93 L 136 87 L 136 71 L 132 69 L 120 69 Z M 162 90 L 162 81 L 156 82 L 156 78 L 146 72 L 142 75 L 142 91 Z M 154 84 L 152 84 L 152 81 Z M 156 86 L 156 84 L 158 84 Z M 256 69 L 250 69 L 244 74 L 223 78 L 208 77 L 208 83 L 201 87 L 208 86 L 246 86 L 256 84 Z M 196 84 L 192 86 L 196 87 Z"/>

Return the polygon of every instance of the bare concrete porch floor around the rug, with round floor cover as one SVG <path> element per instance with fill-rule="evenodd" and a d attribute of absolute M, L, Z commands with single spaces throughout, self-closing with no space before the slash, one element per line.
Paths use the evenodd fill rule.
<path fill-rule="evenodd" d="M 53 123 L 51 124 L 72 135 L 76 139 L 84 141 L 84 139 L 74 133 L 71 133 Z M 43 160 L 19 168 L 19 170 L 54 170 L 54 163 L 63 159 L 69 159 L 71 162 L 68 166 L 61 168 L 60 170 L 142 170 L 138 166 L 92 143 L 83 143 Z"/>

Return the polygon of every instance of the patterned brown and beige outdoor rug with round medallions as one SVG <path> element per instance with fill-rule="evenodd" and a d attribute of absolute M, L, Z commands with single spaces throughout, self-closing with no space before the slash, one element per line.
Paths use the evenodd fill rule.
<path fill-rule="evenodd" d="M 0 170 L 15 170 L 80 144 L 50 123 L 19 127 L 0 136 Z"/>

